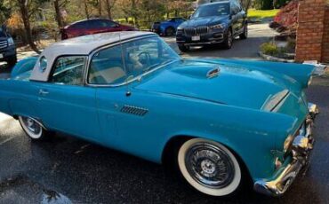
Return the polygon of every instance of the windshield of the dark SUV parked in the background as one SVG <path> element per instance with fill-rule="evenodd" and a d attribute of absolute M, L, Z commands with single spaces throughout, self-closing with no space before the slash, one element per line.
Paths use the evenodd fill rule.
<path fill-rule="evenodd" d="M 229 15 L 229 3 L 225 4 L 207 4 L 197 8 L 191 19 L 210 17 L 210 16 L 226 16 Z"/>

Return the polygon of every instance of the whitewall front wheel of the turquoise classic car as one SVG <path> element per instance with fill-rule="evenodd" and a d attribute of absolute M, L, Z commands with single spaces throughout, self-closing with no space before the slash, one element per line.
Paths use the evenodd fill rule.
<path fill-rule="evenodd" d="M 212 196 L 237 192 L 241 169 L 233 153 L 217 142 L 190 139 L 181 145 L 178 165 L 182 176 L 197 191 Z"/>

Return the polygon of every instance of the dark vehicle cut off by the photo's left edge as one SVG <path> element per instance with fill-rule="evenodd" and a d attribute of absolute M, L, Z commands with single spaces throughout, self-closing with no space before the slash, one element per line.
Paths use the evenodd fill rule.
<path fill-rule="evenodd" d="M 15 43 L 5 26 L 0 27 L 0 62 L 2 61 L 7 62 L 8 67 L 13 67 L 17 62 Z"/>

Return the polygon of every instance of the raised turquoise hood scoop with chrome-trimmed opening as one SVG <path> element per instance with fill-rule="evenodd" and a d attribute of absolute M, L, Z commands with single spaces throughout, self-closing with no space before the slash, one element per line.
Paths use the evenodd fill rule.
<path fill-rule="evenodd" d="M 176 74 L 185 75 L 193 78 L 210 79 L 220 74 L 219 66 L 184 66 L 176 67 L 172 71 Z"/>

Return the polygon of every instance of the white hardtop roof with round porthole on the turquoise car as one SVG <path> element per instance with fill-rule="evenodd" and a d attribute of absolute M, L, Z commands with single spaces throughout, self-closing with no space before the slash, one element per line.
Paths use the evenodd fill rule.
<path fill-rule="evenodd" d="M 39 59 L 30 76 L 30 80 L 46 82 L 48 80 L 48 75 L 51 73 L 52 64 L 55 59 L 60 56 L 65 55 L 89 55 L 92 51 L 106 46 L 111 43 L 124 42 L 128 39 L 133 39 L 137 37 L 156 35 L 151 32 L 142 31 L 123 31 L 123 32 L 111 32 L 111 33 L 101 33 L 94 35 L 84 35 L 68 40 L 60 41 L 58 43 L 52 43 L 49 47 L 45 48 L 40 54 Z M 45 58 L 47 61 L 46 69 L 41 72 L 39 67 L 39 60 Z"/>

